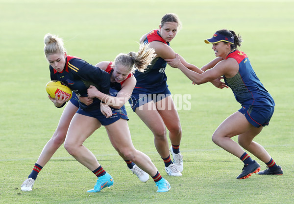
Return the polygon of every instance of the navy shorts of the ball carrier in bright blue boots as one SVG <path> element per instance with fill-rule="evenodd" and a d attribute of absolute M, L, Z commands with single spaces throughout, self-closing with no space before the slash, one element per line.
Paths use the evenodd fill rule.
<path fill-rule="evenodd" d="M 123 106 L 121 109 L 115 109 L 115 108 L 111 108 L 112 109 L 112 116 L 110 118 L 106 118 L 100 111 L 100 107 L 98 107 L 97 109 L 94 110 L 83 110 L 81 108 L 79 108 L 76 113 L 82 114 L 84 116 L 89 116 L 92 118 L 96 118 L 99 122 L 101 122 L 102 125 L 109 125 L 112 124 L 118 120 L 125 119 L 125 120 L 129 120 L 127 117 L 127 113 L 125 110 L 125 107 Z"/>

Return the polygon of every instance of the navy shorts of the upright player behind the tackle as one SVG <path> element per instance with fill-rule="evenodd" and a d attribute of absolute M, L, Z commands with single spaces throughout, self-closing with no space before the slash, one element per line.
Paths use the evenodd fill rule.
<path fill-rule="evenodd" d="M 164 98 L 171 95 L 171 92 L 166 86 L 164 89 L 158 88 L 144 88 L 142 91 L 134 90 L 131 98 L 129 99 L 129 103 L 133 111 L 136 111 L 136 108 L 146 104 L 147 102 L 159 102 Z"/>

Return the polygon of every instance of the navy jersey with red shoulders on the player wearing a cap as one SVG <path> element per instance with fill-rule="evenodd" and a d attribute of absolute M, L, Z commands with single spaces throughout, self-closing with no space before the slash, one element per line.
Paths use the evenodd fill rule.
<path fill-rule="evenodd" d="M 224 82 L 232 89 L 237 102 L 242 105 L 274 106 L 273 98 L 257 78 L 247 55 L 235 50 L 226 59 L 228 58 L 235 59 L 239 64 L 239 71 L 234 77 L 223 76 Z"/>

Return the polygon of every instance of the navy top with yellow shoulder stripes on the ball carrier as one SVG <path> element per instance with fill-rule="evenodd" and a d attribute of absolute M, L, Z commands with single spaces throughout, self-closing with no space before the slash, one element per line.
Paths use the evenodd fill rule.
<path fill-rule="evenodd" d="M 53 69 L 51 65 L 49 70 L 51 80 L 66 83 L 77 96 L 88 96 L 87 89 L 90 85 L 94 85 L 104 94 L 109 93 L 110 74 L 80 58 L 68 55 L 65 67 L 61 73 Z M 99 108 L 100 100 L 94 98 L 93 103 L 89 106 L 79 102 L 79 106 L 87 110 Z"/>

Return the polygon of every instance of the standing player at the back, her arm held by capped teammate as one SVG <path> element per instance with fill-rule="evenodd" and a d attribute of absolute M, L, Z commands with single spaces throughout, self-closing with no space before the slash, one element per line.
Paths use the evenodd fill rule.
<path fill-rule="evenodd" d="M 154 143 L 160 157 L 164 161 L 168 175 L 182 176 L 183 157 L 180 153 L 182 129 L 180 119 L 172 100 L 171 92 L 167 84 L 164 59 L 175 58 L 175 53 L 170 47 L 170 42 L 176 36 L 181 27 L 181 22 L 176 14 L 169 13 L 161 19 L 159 29 L 152 30 L 140 39 L 140 42 L 149 43 L 154 48 L 156 58 L 145 72 L 135 71 L 137 80 L 132 93 L 130 104 L 133 111 L 147 125 L 154 135 Z M 195 65 L 190 64 L 180 57 L 183 64 L 191 70 L 202 73 Z M 220 80 L 214 80 L 217 87 L 225 87 Z M 167 131 L 172 143 L 170 151 L 167 140 Z"/>

